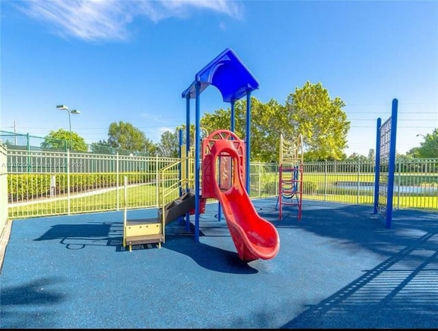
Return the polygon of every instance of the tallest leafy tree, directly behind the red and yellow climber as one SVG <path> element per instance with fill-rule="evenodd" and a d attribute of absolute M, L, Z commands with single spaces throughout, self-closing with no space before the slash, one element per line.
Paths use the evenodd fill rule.
<path fill-rule="evenodd" d="M 307 82 L 288 95 L 287 123 L 302 134 L 306 160 L 342 160 L 350 130 L 344 106 L 339 97 L 331 99 L 321 83 Z"/>

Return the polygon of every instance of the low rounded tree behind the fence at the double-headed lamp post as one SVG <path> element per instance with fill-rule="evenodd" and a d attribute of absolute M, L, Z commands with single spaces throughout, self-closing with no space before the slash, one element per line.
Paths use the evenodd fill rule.
<path fill-rule="evenodd" d="M 85 140 L 76 132 L 71 132 L 71 151 L 88 151 L 88 145 Z M 70 132 L 64 129 L 51 131 L 44 137 L 44 141 L 40 144 L 42 148 L 60 149 L 65 151 L 70 147 Z"/>

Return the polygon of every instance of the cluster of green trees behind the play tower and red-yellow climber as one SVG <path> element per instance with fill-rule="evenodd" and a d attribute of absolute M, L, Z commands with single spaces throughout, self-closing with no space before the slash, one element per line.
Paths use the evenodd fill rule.
<path fill-rule="evenodd" d="M 344 101 L 331 99 L 322 84 L 307 82 L 287 97 L 285 106 L 271 99 L 262 103 L 251 97 L 251 160 L 270 162 L 279 160 L 280 134 L 294 141 L 302 134 L 305 160 L 343 160 L 348 147 L 346 136 L 350 122 L 342 110 Z M 220 109 L 204 114 L 201 125 L 209 132 L 227 129 L 231 125 L 231 110 Z M 235 103 L 235 134 L 246 136 L 246 100 Z"/>

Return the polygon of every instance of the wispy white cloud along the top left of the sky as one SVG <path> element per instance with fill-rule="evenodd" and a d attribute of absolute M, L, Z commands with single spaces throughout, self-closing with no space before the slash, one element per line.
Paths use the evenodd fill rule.
<path fill-rule="evenodd" d="M 83 40 L 127 40 L 129 23 L 138 16 L 155 23 L 173 16 L 188 18 L 193 10 L 242 17 L 241 3 L 228 0 L 28 0 L 16 5 L 30 17 L 47 21 L 57 34 Z"/>

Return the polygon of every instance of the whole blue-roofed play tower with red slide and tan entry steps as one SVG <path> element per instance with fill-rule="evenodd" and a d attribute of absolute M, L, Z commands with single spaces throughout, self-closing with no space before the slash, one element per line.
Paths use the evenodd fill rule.
<path fill-rule="evenodd" d="M 201 93 L 216 86 L 224 102 L 231 104 L 231 130 L 216 130 L 201 142 Z M 181 159 L 170 167 L 179 167 L 180 180 L 159 193 L 162 203 L 157 219 L 128 220 L 125 204 L 123 245 L 165 242 L 166 224 L 185 216 L 186 230 L 194 214 L 194 240 L 199 241 L 199 216 L 208 198 L 218 199 L 237 254 L 244 261 L 274 258 L 279 252 L 279 234 L 269 221 L 257 214 L 248 195 L 250 188 L 250 95 L 259 83 L 231 49 L 225 49 L 195 75 L 183 91 L 186 100 L 185 146 L 180 134 Z M 235 101 L 246 96 L 246 140 L 234 133 Z M 190 99 L 196 100 L 194 149 L 190 147 Z M 202 146 L 201 146 L 202 143 Z M 202 147 L 202 150 L 201 150 Z M 193 160 L 194 158 L 194 160 Z M 202 167 L 202 171 L 201 171 Z M 162 170 L 164 175 L 166 169 Z M 202 181 L 200 180 L 202 173 Z M 160 175 L 159 177 L 161 177 Z M 159 180 L 157 183 L 162 186 Z M 194 185 L 191 186 L 191 185 Z M 180 197 L 165 204 L 179 190 Z M 125 201 L 126 201 L 125 184 Z M 164 210 L 164 212 L 163 212 Z M 219 213 L 220 214 L 220 213 Z M 218 217 L 220 221 L 220 217 Z"/>

